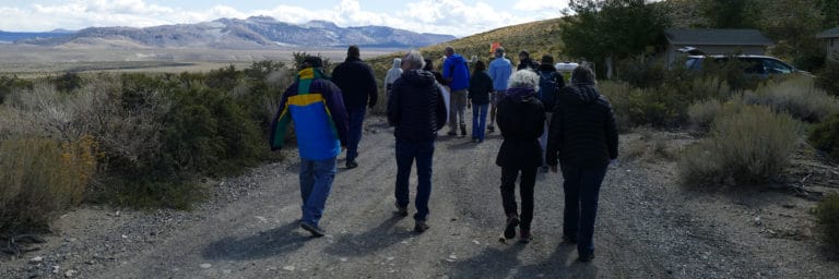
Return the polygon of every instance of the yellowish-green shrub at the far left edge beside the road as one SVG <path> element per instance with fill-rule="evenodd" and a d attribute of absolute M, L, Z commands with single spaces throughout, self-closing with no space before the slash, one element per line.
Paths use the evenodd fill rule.
<path fill-rule="evenodd" d="M 46 228 L 81 203 L 96 170 L 95 156 L 91 136 L 66 144 L 48 138 L 0 141 L 0 231 Z"/>

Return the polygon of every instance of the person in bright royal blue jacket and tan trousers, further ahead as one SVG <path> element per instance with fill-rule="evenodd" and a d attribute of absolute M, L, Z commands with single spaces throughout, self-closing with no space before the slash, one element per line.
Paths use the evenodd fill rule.
<path fill-rule="evenodd" d="M 451 89 L 451 109 L 449 110 L 449 135 L 466 135 L 466 94 L 469 92 L 469 65 L 454 48 L 446 47 L 446 61 L 442 62 L 442 78 Z"/>

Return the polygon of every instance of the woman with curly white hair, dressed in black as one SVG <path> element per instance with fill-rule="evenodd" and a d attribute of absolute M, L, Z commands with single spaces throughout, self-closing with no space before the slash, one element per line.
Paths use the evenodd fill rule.
<path fill-rule="evenodd" d="M 519 227 L 519 242 L 530 242 L 530 223 L 533 220 L 533 186 L 536 184 L 536 168 L 542 166 L 542 147 L 539 136 L 545 124 L 545 109 L 535 97 L 539 75 L 529 70 L 519 70 L 510 76 L 506 96 L 498 104 L 498 128 L 504 142 L 495 163 L 501 167 L 501 201 L 507 215 L 504 238 L 516 236 Z M 516 179 L 521 172 L 519 195 L 521 196 L 521 219 L 516 205 Z"/>

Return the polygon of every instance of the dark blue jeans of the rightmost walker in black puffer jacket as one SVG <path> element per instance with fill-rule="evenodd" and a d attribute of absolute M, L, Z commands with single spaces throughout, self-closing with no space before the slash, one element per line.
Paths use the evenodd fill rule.
<path fill-rule="evenodd" d="M 600 184 L 606 175 L 608 166 L 580 168 L 562 165 L 563 187 L 565 190 L 565 217 L 563 233 L 577 238 L 577 253 L 594 253 L 594 219 L 598 216 L 598 196 Z"/>

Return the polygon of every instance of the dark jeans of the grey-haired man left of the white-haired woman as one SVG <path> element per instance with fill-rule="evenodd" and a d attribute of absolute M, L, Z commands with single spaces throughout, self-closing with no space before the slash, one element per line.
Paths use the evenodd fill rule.
<path fill-rule="evenodd" d="M 428 198 L 432 196 L 432 159 L 434 157 L 434 141 L 409 142 L 397 140 L 397 205 L 407 207 L 410 203 L 409 179 L 411 168 L 416 159 L 416 214 L 414 219 L 425 220 L 428 217 Z"/>

